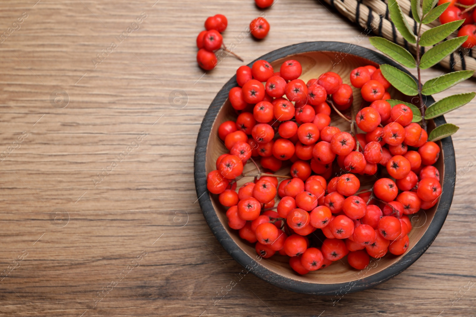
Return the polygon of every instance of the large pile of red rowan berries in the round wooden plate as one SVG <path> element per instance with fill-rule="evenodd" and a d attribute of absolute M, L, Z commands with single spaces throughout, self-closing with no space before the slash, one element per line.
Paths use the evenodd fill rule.
<path fill-rule="evenodd" d="M 364 99 L 354 110 L 353 89 L 338 74 L 305 83 L 301 73 L 296 60 L 279 72 L 265 60 L 238 68 L 238 86 L 229 91 L 237 118 L 218 128 L 229 152 L 208 173 L 208 191 L 228 208 L 229 227 L 256 243 L 258 255 L 289 256 L 299 274 L 345 256 L 364 269 L 370 257 L 405 253 L 407 215 L 431 208 L 441 194 L 432 166 L 439 146 L 412 123 L 408 106 L 386 101 L 390 84 L 380 69 L 350 73 Z M 329 125 L 332 111 L 350 122 L 351 133 Z M 256 171 L 244 174 L 250 162 Z M 289 165 L 290 175 L 273 174 Z M 239 179 L 253 176 L 237 188 Z M 362 182 L 371 187 L 361 189 Z"/>

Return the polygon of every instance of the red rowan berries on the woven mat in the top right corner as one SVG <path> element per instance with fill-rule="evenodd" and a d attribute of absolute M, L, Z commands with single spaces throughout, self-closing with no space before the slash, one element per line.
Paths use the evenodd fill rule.
<path fill-rule="evenodd" d="M 468 36 L 468 39 L 461 45 L 464 48 L 473 48 L 476 45 L 476 0 L 439 0 L 438 5 L 450 2 L 449 7 L 440 15 L 440 23 L 445 24 L 456 20 L 465 21 L 461 29 L 458 30 L 459 36 Z"/>

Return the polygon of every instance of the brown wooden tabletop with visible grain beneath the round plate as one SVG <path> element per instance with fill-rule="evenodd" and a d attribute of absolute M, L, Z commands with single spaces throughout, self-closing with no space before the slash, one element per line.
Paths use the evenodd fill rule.
<path fill-rule="evenodd" d="M 318 0 L 265 10 L 263 41 L 238 38 L 262 12 L 252 0 L 36 1 L 0 3 L 1 316 L 474 316 L 474 102 L 446 115 L 461 127 L 455 198 L 404 273 L 338 302 L 248 274 L 214 302 L 242 268 L 198 207 L 193 155 L 208 105 L 242 64 L 197 67 L 203 22 L 225 14 L 225 43 L 246 63 L 368 37 Z"/>

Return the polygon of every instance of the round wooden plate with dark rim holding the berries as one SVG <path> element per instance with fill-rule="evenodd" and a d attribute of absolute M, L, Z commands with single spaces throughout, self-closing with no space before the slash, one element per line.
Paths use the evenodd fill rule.
<path fill-rule="evenodd" d="M 403 71 L 387 57 L 367 48 L 340 42 L 306 42 L 279 48 L 258 59 L 265 59 L 279 70 L 279 66 L 287 59 L 296 59 L 302 64 L 301 79 L 307 82 L 310 78 L 317 78 L 327 71 L 339 74 L 344 83 L 350 84 L 350 71 L 364 65 L 390 64 Z M 254 62 L 254 61 L 253 61 Z M 253 63 L 248 66 L 251 67 Z M 408 73 L 408 72 L 407 72 Z M 409 73 L 408 73 L 409 74 Z M 439 143 L 442 152 L 435 166 L 440 171 L 442 194 L 440 201 L 431 209 L 419 211 L 410 215 L 413 230 L 409 233 L 410 246 L 405 254 L 394 256 L 387 254 L 381 259 L 372 259 L 367 269 L 362 271 L 352 269 L 347 260 L 336 261 L 325 269 L 310 272 L 300 276 L 288 265 L 287 257 L 275 255 L 270 259 L 257 260 L 253 245 L 242 240 L 238 231 L 228 227 L 225 215 L 226 209 L 218 202 L 218 195 L 207 191 L 207 174 L 215 170 L 215 161 L 220 154 L 226 153 L 224 144 L 218 138 L 218 126 L 226 120 L 235 120 L 236 114 L 228 101 L 228 91 L 238 86 L 236 76 L 233 76 L 218 92 L 203 119 L 197 137 L 195 149 L 195 185 L 200 207 L 211 231 L 228 253 L 245 269 L 251 271 L 265 281 L 291 291 L 317 295 L 343 295 L 372 288 L 407 269 L 430 246 L 443 226 L 448 214 L 456 179 L 455 153 L 451 137 Z M 411 98 L 403 96 L 396 90 L 390 91 L 395 99 L 411 102 Z M 354 105 L 360 105 L 359 91 L 354 91 Z M 427 97 L 426 105 L 434 103 L 431 96 Z M 332 125 L 342 127 L 348 131 L 348 123 L 337 115 L 331 115 Z M 428 130 L 446 123 L 440 116 L 428 123 Z M 245 172 L 253 170 L 252 164 L 245 165 Z M 284 167 L 278 174 L 288 174 L 289 166 Z M 252 181 L 241 180 L 241 183 Z M 238 186 L 241 185 L 238 183 Z M 259 257 L 258 257 L 259 258 Z"/>

